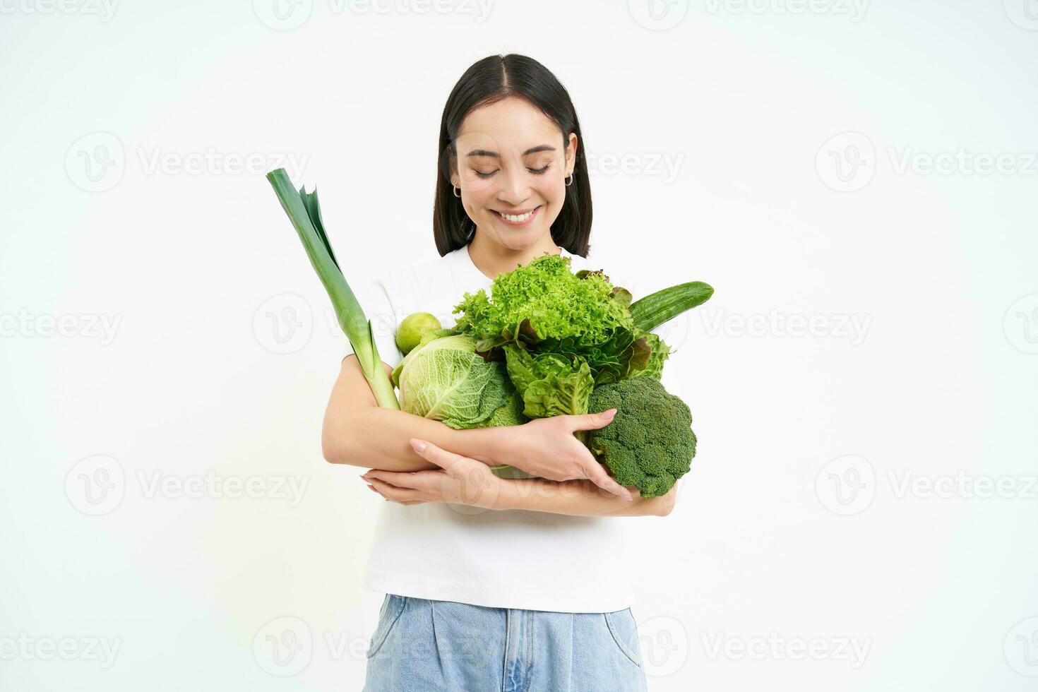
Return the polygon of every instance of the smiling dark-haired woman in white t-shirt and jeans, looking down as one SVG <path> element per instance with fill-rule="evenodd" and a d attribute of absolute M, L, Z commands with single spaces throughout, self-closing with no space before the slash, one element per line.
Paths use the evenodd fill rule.
<path fill-rule="evenodd" d="M 450 328 L 463 293 L 545 254 L 597 269 L 580 127 L 538 61 L 490 56 L 465 72 L 443 108 L 438 166 L 440 257 L 393 270 L 360 299 L 387 370 L 403 359 L 404 315 Z M 665 516 L 676 493 L 641 497 L 595 461 L 574 433 L 610 424 L 608 412 L 453 430 L 374 404 L 347 358 L 325 455 L 371 467 L 362 477 L 387 500 L 363 580 L 386 594 L 364 690 L 646 689 L 629 551 L 610 518 Z M 529 476 L 491 471 L 502 465 Z"/>

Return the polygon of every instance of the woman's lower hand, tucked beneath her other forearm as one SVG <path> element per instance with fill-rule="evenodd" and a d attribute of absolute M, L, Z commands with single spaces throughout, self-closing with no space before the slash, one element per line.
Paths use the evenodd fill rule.
<path fill-rule="evenodd" d="M 494 475 L 486 464 L 420 440 L 412 440 L 411 446 L 441 468 L 404 472 L 372 469 L 360 477 L 382 497 L 401 504 L 449 502 L 485 509 L 503 508 L 498 502 L 506 480 Z"/>

